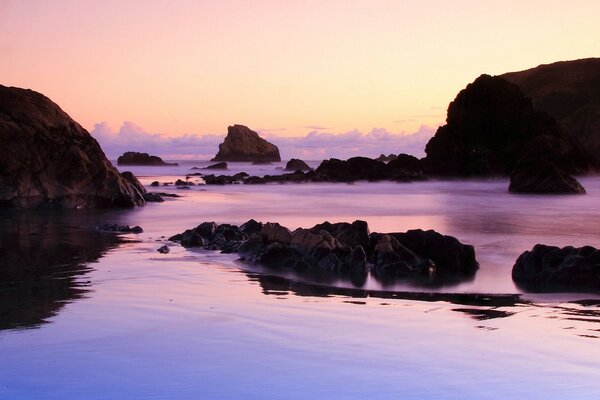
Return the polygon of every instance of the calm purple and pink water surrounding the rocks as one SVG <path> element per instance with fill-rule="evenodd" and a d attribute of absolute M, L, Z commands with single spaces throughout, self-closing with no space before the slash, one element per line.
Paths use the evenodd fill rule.
<path fill-rule="evenodd" d="M 133 170 L 149 184 L 193 165 Z M 182 197 L 136 210 L 1 211 L 0 398 L 596 399 L 600 297 L 510 278 L 535 243 L 600 247 L 600 178 L 582 183 L 586 196 L 510 195 L 504 180 L 167 186 Z M 435 229 L 473 244 L 481 268 L 443 286 L 357 287 L 156 252 L 200 222 L 250 218 Z M 93 229 L 105 222 L 144 233 Z"/>

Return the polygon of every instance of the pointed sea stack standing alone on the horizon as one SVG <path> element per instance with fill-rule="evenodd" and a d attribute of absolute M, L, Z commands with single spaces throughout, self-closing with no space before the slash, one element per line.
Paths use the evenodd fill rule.
<path fill-rule="evenodd" d="M 212 161 L 281 161 L 279 149 L 243 125 L 227 128 L 227 136 L 219 145 L 219 152 Z"/>

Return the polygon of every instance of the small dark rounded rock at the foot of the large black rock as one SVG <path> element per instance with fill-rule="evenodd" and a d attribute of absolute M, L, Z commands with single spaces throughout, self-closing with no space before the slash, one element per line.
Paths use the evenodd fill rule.
<path fill-rule="evenodd" d="M 532 194 L 585 194 L 585 189 L 569 174 L 548 161 L 521 160 L 510 176 L 509 192 Z"/>

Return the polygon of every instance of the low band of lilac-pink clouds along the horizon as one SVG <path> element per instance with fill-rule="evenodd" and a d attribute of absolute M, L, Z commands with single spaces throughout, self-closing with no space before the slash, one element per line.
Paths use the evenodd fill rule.
<path fill-rule="evenodd" d="M 304 136 L 287 137 L 264 131 L 261 135 L 279 147 L 283 159 L 347 159 L 358 155 L 376 157 L 390 153 L 408 153 L 422 157 L 425 155 L 425 144 L 433 136 L 435 129 L 436 127 L 423 125 L 418 131 L 411 133 L 394 133 L 374 128 L 367 133 L 358 130 L 336 133 L 313 129 Z M 167 136 L 146 132 L 132 122 L 124 122 L 118 131 L 113 131 L 108 124 L 101 122 L 94 126 L 91 134 L 110 159 L 116 159 L 126 151 L 141 151 L 167 160 L 210 159 L 217 153 L 225 136 Z"/>

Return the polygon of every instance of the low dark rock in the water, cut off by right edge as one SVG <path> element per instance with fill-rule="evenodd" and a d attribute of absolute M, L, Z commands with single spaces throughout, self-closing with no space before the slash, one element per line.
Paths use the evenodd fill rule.
<path fill-rule="evenodd" d="M 512 278 L 532 290 L 598 290 L 600 252 L 591 246 L 559 248 L 537 244 L 519 256 Z"/>

